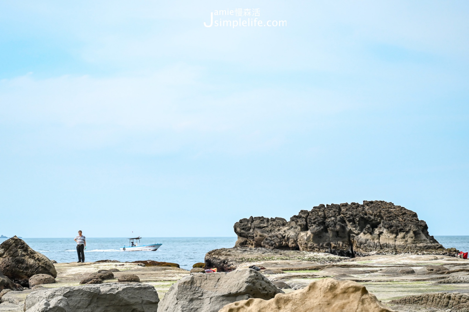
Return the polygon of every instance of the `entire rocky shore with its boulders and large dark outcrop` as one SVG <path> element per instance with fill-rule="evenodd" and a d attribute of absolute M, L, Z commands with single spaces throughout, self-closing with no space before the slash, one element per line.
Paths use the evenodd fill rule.
<path fill-rule="evenodd" d="M 328 206 L 303 213 L 305 223 L 243 219 L 236 246 L 191 271 L 153 260 L 53 263 L 10 238 L 0 245 L 0 312 L 469 312 L 469 260 L 414 212 Z"/>

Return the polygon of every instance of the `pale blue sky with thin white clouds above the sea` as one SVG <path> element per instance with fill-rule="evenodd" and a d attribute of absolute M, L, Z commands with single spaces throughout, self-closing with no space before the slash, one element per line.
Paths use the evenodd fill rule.
<path fill-rule="evenodd" d="M 0 234 L 235 236 L 383 200 L 469 235 L 468 20 L 457 0 L 1 1 Z"/>

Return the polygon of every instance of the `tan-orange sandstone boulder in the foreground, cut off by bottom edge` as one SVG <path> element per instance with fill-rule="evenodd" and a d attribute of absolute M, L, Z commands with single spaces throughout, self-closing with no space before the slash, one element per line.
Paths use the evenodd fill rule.
<path fill-rule="evenodd" d="M 271 300 L 243 300 L 219 312 L 392 312 L 357 282 L 325 278 Z"/>

